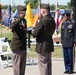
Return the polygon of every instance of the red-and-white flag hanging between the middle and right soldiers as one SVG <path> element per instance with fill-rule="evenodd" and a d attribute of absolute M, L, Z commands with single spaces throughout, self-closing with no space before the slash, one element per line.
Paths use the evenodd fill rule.
<path fill-rule="evenodd" d="M 58 30 L 58 27 L 59 27 L 61 21 L 62 21 L 62 16 L 60 14 L 60 10 L 58 8 L 58 1 L 57 1 L 57 4 L 56 4 L 56 12 L 55 12 L 56 30 Z"/>

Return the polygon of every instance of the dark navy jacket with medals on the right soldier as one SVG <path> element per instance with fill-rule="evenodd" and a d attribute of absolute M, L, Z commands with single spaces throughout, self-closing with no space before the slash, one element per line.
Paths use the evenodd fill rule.
<path fill-rule="evenodd" d="M 76 43 L 76 23 L 74 21 L 68 20 L 62 23 L 61 41 L 63 47 L 73 47 Z"/>

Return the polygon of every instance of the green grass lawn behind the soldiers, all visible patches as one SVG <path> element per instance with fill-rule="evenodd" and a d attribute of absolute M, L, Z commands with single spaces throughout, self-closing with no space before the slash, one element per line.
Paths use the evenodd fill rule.
<path fill-rule="evenodd" d="M 11 40 L 11 38 L 12 38 L 11 29 L 7 30 L 7 29 L 5 29 L 3 27 L 1 28 L 1 26 L 0 26 L 0 37 L 6 37 L 9 40 Z M 61 58 L 61 57 L 63 57 L 61 47 L 60 46 L 55 46 L 54 48 L 55 48 L 55 50 L 52 53 L 52 57 L 54 57 L 54 58 Z M 5 49 L 6 49 L 6 47 L 4 47 L 4 50 Z M 31 46 L 29 55 L 30 55 L 30 57 L 37 57 L 37 53 L 35 52 L 35 45 Z"/>

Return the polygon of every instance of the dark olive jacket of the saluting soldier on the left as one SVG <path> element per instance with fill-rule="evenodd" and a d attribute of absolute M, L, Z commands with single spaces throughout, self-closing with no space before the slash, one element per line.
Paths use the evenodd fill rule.
<path fill-rule="evenodd" d="M 22 25 L 22 21 L 24 26 Z M 11 22 L 10 28 L 13 32 L 11 40 L 12 50 L 26 50 L 26 20 L 17 16 Z"/>

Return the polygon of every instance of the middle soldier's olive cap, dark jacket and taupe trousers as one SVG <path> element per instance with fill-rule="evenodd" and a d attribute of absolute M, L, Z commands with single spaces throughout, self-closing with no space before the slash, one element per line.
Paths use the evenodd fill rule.
<path fill-rule="evenodd" d="M 41 9 L 50 10 L 50 6 L 42 4 Z M 32 35 L 36 38 L 36 52 L 38 53 L 40 75 L 52 75 L 51 52 L 54 51 L 52 35 L 55 30 L 55 21 L 49 15 L 49 12 L 41 16 Z"/>

